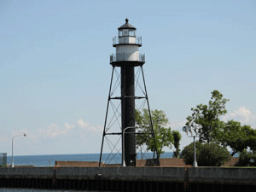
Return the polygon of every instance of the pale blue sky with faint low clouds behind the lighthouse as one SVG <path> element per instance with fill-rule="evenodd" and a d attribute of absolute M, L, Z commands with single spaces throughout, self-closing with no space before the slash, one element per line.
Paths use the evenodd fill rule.
<path fill-rule="evenodd" d="M 150 108 L 181 131 L 181 148 L 193 140 L 186 117 L 212 90 L 230 99 L 224 120 L 256 129 L 255 10 L 254 0 L 1 0 L 0 153 L 23 132 L 15 155 L 100 153 L 126 16 L 143 38 Z"/>

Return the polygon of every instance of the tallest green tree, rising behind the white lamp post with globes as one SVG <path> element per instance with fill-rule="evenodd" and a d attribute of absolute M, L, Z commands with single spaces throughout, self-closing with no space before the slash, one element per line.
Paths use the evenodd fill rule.
<path fill-rule="evenodd" d="M 213 134 L 218 132 L 218 129 L 224 125 L 224 122 L 219 117 L 227 113 L 225 103 L 228 101 L 229 99 L 224 99 L 218 90 L 213 90 L 208 105 L 199 104 L 196 108 L 191 108 L 192 115 L 187 117 L 186 125 L 191 123 L 193 125 L 193 122 L 195 122 L 195 124 L 202 126 L 201 143 L 212 142 Z"/>

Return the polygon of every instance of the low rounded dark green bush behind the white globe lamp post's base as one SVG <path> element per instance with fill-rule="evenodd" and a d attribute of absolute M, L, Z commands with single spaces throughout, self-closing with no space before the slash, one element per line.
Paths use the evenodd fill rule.
<path fill-rule="evenodd" d="M 231 159 L 231 155 L 227 148 L 221 147 L 218 143 L 195 143 L 196 160 L 198 166 L 222 166 Z M 185 164 L 192 165 L 194 161 L 194 143 L 186 146 L 181 157 Z"/>

